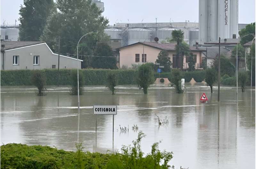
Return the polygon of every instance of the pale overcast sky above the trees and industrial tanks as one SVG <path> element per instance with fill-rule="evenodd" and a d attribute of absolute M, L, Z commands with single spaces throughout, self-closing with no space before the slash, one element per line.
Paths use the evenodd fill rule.
<path fill-rule="evenodd" d="M 198 22 L 198 0 L 101 0 L 109 24 L 116 22 Z M 23 0 L 1 0 L 1 24 L 18 20 Z M 255 22 L 255 0 L 239 1 L 240 24 Z"/>

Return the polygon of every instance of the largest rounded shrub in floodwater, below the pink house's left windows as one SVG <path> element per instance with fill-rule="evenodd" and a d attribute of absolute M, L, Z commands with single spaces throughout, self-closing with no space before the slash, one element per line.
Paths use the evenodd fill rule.
<path fill-rule="evenodd" d="M 140 65 L 136 75 L 136 82 L 139 88 L 143 89 L 144 94 L 148 94 L 149 85 L 155 81 L 153 67 L 149 63 Z"/>

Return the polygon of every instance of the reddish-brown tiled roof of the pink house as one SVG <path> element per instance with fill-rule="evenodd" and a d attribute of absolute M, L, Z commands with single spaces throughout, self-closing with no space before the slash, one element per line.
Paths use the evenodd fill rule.
<path fill-rule="evenodd" d="M 161 50 L 173 50 L 175 51 L 175 46 L 177 45 L 176 43 L 157 43 L 157 42 L 137 42 L 137 43 L 133 43 L 131 45 L 127 45 L 121 48 L 126 48 L 132 45 L 136 45 L 136 44 L 144 44 L 145 46 L 149 46 L 149 47 L 153 47 L 153 48 L 158 48 Z M 196 48 L 196 47 L 189 47 L 190 50 L 192 51 L 206 51 L 205 48 Z M 120 48 L 117 48 L 120 49 Z"/>

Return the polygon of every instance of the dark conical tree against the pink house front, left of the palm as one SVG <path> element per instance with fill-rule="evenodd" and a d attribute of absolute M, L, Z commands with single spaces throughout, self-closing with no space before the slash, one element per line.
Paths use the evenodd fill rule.
<path fill-rule="evenodd" d="M 164 68 L 161 68 L 163 72 L 170 72 L 172 62 L 170 60 L 168 51 L 167 50 L 161 50 L 157 56 L 156 63 L 159 63 L 160 66 L 164 66 Z M 158 67 L 158 66 L 157 66 Z"/>

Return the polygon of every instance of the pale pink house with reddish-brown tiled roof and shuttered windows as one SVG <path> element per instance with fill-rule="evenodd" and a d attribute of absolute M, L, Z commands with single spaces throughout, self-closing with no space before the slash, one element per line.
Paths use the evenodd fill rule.
<path fill-rule="evenodd" d="M 131 45 L 127 45 L 121 48 L 117 48 L 119 51 L 119 67 L 126 65 L 132 67 L 132 64 L 141 64 L 145 62 L 156 62 L 157 56 L 161 50 L 167 50 L 170 60 L 172 62 L 173 69 L 179 69 L 181 67 L 181 57 L 176 57 L 176 44 L 174 43 L 157 43 L 157 42 L 137 42 Z M 195 68 L 197 70 L 203 70 L 202 60 L 205 56 L 202 54 L 205 48 L 190 47 L 190 51 L 194 55 L 196 62 Z M 188 69 L 189 57 L 183 58 L 183 69 Z"/>

